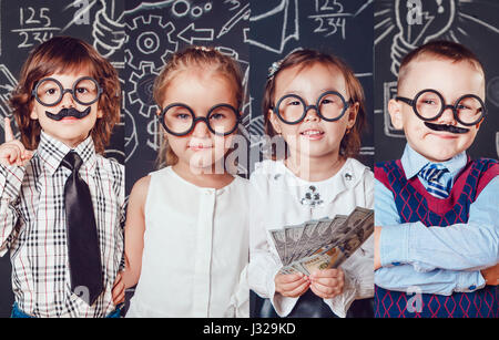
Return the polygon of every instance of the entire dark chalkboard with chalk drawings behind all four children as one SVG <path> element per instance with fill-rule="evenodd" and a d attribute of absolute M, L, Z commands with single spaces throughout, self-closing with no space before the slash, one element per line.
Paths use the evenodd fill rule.
<path fill-rule="evenodd" d="M 368 125 L 371 130 L 374 127 L 375 134 L 369 130 L 364 134 L 359 158 L 373 166 L 375 158 L 398 158 L 405 145 L 400 132 L 393 131 L 385 119 L 386 101 L 393 95 L 389 84 L 385 83 L 396 80 L 396 72 L 390 71 L 394 60 L 400 58 L 391 56 L 393 51 L 400 49 L 394 43 L 399 41 L 395 38 L 400 32 L 396 12 L 398 6 L 406 6 L 406 2 L 252 0 L 249 20 L 248 0 L 0 0 L 0 115 L 4 117 L 10 113 L 6 101 L 16 85 L 22 62 L 38 43 L 37 40 L 47 40 L 50 34 L 67 34 L 93 43 L 119 69 L 123 82 L 124 124 L 116 126 L 106 156 L 125 163 L 129 192 L 136 179 L 154 169 L 161 125 L 153 117 L 155 106 L 151 85 L 170 53 L 195 43 L 217 47 L 240 61 L 247 87 L 242 107 L 245 120 L 240 131 L 254 150 L 259 147 L 258 136 L 263 134 L 261 99 L 267 68 L 298 47 L 314 48 L 343 58 L 364 86 Z M 421 2 L 431 14 L 438 13 L 439 6 L 444 13 L 435 16 L 434 27 L 430 28 L 432 33 L 424 33 L 424 38 L 415 44 L 422 43 L 431 34 L 459 41 L 476 52 L 485 64 L 489 115 L 470 154 L 473 157 L 497 158 L 499 3 L 495 0 Z M 22 23 L 20 8 L 23 9 Z M 82 12 L 83 9 L 88 11 Z M 72 22 L 73 18 L 81 20 Z M 287 19 L 286 24 L 284 18 Z M 452 20 L 449 21 L 449 18 Z M 221 34 L 224 28 L 228 31 Z M 0 138 L 3 140 L 2 120 L 0 125 Z M 251 159 L 244 175 L 251 173 L 255 161 L 258 159 Z M 0 317 L 10 313 L 10 265 L 6 256 L 0 258 Z"/>

